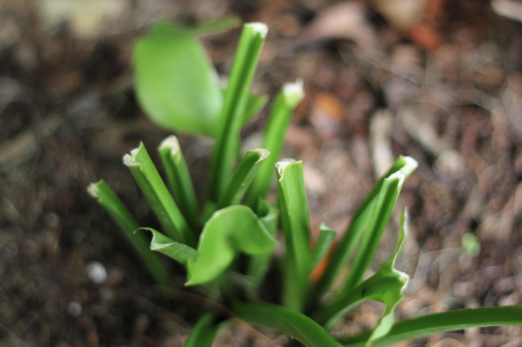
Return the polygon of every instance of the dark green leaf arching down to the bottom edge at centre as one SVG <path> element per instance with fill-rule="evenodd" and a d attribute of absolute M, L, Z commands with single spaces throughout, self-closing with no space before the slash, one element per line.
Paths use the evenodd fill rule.
<path fill-rule="evenodd" d="M 308 347 L 339 347 L 313 319 L 291 308 L 267 303 L 235 302 L 232 311 L 248 324 L 281 331 Z"/>

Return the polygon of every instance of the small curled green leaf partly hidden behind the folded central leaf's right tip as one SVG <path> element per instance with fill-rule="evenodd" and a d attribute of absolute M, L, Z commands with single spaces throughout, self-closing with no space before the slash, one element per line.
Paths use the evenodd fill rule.
<path fill-rule="evenodd" d="M 259 216 L 259 220 L 263 223 L 268 233 L 272 237 L 275 237 L 277 231 L 277 221 L 279 218 L 279 210 L 277 209 L 277 206 L 266 200 L 259 199 L 257 215 Z M 271 258 L 272 254 L 266 253 L 251 256 L 248 261 L 246 275 L 250 277 L 248 290 L 250 291 L 249 295 L 252 299 L 256 298 L 256 290 L 263 282 L 263 279 L 268 272 Z"/>

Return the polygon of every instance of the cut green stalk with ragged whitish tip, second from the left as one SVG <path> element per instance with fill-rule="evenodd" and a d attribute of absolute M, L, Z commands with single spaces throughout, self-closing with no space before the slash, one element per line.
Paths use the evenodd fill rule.
<path fill-rule="evenodd" d="M 152 163 L 143 142 L 131 154 L 123 157 L 123 163 L 131 170 L 168 236 L 177 242 L 194 246 L 196 238 Z"/>

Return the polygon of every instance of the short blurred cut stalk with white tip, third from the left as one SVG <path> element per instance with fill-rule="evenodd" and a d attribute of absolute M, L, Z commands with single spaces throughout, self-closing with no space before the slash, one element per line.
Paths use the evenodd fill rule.
<path fill-rule="evenodd" d="M 196 191 L 181 151 L 180 141 L 171 135 L 160 143 L 158 152 L 167 173 L 172 195 L 181 213 L 186 217 L 193 232 L 199 233 L 201 225 Z"/>

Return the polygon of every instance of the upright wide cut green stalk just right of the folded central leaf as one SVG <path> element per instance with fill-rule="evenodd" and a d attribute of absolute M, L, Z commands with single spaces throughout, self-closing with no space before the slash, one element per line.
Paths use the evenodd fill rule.
<path fill-rule="evenodd" d="M 304 189 L 303 162 L 276 163 L 278 204 L 286 255 L 282 302 L 301 311 L 306 303 L 312 271 L 308 204 Z"/>

